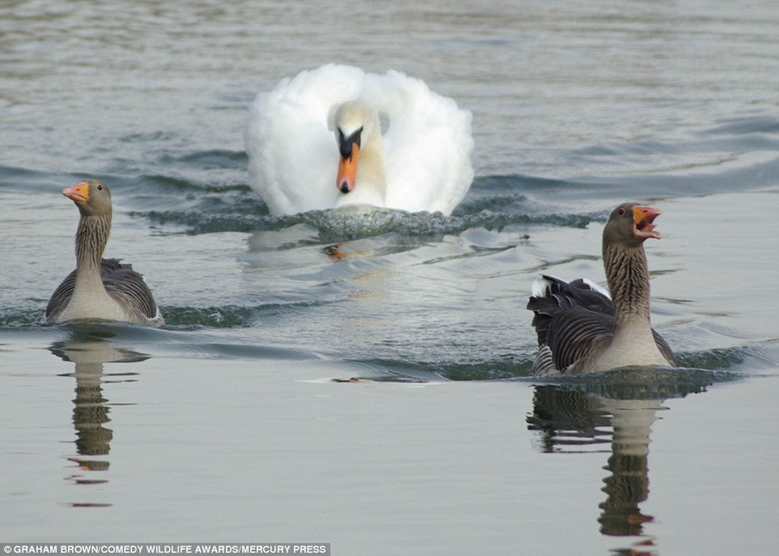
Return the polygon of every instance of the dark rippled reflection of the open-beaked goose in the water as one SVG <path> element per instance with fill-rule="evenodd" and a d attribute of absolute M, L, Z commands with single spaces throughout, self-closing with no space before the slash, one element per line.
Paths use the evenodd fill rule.
<path fill-rule="evenodd" d="M 683 372 L 683 371 L 682 371 Z M 649 444 L 657 411 L 664 399 L 705 392 L 710 382 L 688 381 L 676 371 L 612 371 L 603 377 L 534 386 L 533 413 L 527 428 L 538 432 L 542 452 L 604 452 L 608 475 L 599 504 L 601 534 L 643 537 L 615 554 L 655 554 L 654 537 L 645 523 L 654 520 L 640 510 L 649 496 Z M 671 378 L 668 380 L 668 378 Z M 602 380 L 603 382 L 596 382 Z M 704 381 L 705 382 L 705 381 Z M 651 386 L 647 386 L 651 385 Z"/>

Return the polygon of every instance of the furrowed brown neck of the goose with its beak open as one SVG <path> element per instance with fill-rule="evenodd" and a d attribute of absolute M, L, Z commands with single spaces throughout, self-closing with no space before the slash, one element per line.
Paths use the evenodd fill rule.
<path fill-rule="evenodd" d="M 603 262 L 614 301 L 615 334 L 630 331 L 654 343 L 649 317 L 649 268 L 643 246 L 605 246 Z"/>

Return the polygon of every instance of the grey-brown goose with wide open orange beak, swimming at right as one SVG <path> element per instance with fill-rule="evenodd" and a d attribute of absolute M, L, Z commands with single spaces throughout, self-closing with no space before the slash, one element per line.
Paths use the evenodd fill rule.
<path fill-rule="evenodd" d="M 643 251 L 657 209 L 626 203 L 604 230 L 604 266 L 612 297 L 587 280 L 543 276 L 527 308 L 534 311 L 534 375 L 605 371 L 630 365 L 675 366 L 668 343 L 650 326 L 649 271 Z"/>

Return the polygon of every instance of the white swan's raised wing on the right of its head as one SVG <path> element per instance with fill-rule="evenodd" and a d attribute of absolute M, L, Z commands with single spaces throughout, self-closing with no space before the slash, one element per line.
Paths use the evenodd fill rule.
<path fill-rule="evenodd" d="M 386 206 L 451 213 L 474 178 L 471 113 L 395 71 L 367 74 L 362 100 L 389 121 L 382 139 Z"/>

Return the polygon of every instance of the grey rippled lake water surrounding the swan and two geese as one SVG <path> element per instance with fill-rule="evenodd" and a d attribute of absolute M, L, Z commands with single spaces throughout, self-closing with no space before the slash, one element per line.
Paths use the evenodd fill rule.
<path fill-rule="evenodd" d="M 0 10 L 3 541 L 775 553 L 776 2 Z M 452 216 L 269 216 L 248 105 L 328 62 L 473 112 Z M 40 324 L 87 177 L 162 329 Z M 685 368 L 528 377 L 530 282 L 603 283 L 626 200 Z"/>

